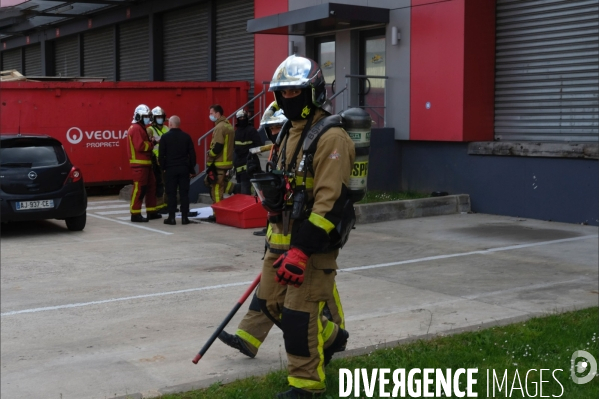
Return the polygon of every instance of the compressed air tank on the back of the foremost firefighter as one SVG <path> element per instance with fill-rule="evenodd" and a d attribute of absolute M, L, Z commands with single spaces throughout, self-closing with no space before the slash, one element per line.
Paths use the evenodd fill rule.
<path fill-rule="evenodd" d="M 349 178 L 349 190 L 352 201 L 358 202 L 366 195 L 372 118 L 362 108 L 349 108 L 341 113 L 341 117 L 343 128 L 356 147 L 356 159 Z"/>

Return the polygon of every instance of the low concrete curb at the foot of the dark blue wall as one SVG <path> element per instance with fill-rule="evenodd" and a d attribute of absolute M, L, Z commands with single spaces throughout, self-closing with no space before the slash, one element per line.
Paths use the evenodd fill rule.
<path fill-rule="evenodd" d="M 470 212 L 468 194 L 356 205 L 356 224 Z"/>

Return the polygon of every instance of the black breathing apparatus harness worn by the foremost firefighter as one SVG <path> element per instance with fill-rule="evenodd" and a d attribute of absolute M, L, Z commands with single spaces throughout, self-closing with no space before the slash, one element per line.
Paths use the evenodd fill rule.
<path fill-rule="evenodd" d="M 325 116 L 312 126 L 313 119 L 313 114 L 308 117 L 289 164 L 286 147 L 291 121 L 285 122 L 277 136 L 273 156 L 266 164 L 266 172 L 256 174 L 251 180 L 262 206 L 268 211 L 269 223 L 282 221 L 284 235 L 288 234 L 290 219 L 302 221 L 310 216 L 313 200 L 308 200 L 306 182 L 308 172 L 314 176 L 313 161 L 318 140 L 330 128 L 343 127 L 340 115 Z M 302 159 L 299 165 L 296 165 L 300 149 L 303 150 Z M 279 159 L 280 169 L 277 168 Z M 328 250 L 343 247 L 355 224 L 356 216 L 350 198 L 351 196 L 348 196 L 345 200 L 340 223 L 330 233 L 331 245 Z"/>

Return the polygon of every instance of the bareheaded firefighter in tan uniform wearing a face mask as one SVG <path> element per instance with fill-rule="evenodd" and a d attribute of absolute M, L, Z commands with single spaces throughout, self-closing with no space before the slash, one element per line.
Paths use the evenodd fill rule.
<path fill-rule="evenodd" d="M 231 123 L 223 116 L 223 112 L 223 107 L 218 104 L 210 106 L 210 120 L 214 122 L 214 131 L 206 161 L 207 171 L 204 182 L 210 186 L 212 203 L 220 202 L 225 193 L 232 194 L 234 187 L 231 183 L 231 169 L 235 133 Z"/>

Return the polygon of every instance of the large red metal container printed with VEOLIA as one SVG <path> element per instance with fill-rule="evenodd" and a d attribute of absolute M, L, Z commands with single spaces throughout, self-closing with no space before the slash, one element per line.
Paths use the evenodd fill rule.
<path fill-rule="evenodd" d="M 178 115 L 197 143 L 214 126 L 210 105 L 233 113 L 248 100 L 249 88 L 248 82 L 2 82 L 0 133 L 47 134 L 63 143 L 86 184 L 127 183 L 127 129 L 135 107 Z M 200 169 L 207 150 L 196 148 Z"/>

